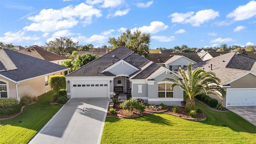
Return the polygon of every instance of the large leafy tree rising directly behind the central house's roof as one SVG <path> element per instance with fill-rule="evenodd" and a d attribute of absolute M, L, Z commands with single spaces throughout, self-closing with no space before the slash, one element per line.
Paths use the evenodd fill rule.
<path fill-rule="evenodd" d="M 111 49 L 118 46 L 126 46 L 130 50 L 147 57 L 149 54 L 150 34 L 136 30 L 133 33 L 130 30 L 123 32 L 117 39 L 109 38 L 108 43 L 112 44 Z"/>

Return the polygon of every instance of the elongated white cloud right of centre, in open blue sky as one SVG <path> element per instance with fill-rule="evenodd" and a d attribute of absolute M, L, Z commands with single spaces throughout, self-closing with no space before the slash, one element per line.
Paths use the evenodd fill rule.
<path fill-rule="evenodd" d="M 212 9 L 209 10 L 200 10 L 193 15 L 194 12 L 187 12 L 186 14 L 175 12 L 168 17 L 172 17 L 172 22 L 178 22 L 182 24 L 190 23 L 192 26 L 200 26 L 209 20 L 215 19 L 219 15 L 219 12 L 216 12 Z"/>

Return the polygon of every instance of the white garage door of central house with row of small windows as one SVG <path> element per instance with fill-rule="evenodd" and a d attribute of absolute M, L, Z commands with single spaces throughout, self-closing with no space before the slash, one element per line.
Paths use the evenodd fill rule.
<path fill-rule="evenodd" d="M 107 98 L 108 81 L 74 81 L 72 98 Z"/>

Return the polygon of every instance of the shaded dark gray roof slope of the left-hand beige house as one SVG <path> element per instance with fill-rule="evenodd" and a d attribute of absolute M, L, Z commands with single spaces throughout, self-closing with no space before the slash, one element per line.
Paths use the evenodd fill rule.
<path fill-rule="evenodd" d="M 12 50 L 4 49 L 3 51 L 15 64 L 17 69 L 1 71 L 0 74 L 16 82 L 68 69 L 68 67 L 41 60 L 39 58 L 34 58 L 32 56 L 21 54 Z"/>

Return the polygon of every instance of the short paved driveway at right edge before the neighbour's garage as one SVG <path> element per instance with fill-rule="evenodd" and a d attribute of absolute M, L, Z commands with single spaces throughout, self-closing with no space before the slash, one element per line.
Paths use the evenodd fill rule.
<path fill-rule="evenodd" d="M 256 106 L 234 106 L 227 108 L 256 126 Z"/>

